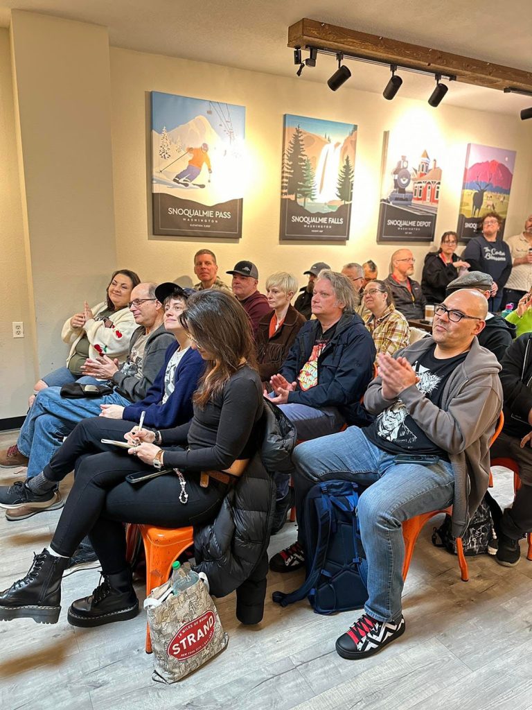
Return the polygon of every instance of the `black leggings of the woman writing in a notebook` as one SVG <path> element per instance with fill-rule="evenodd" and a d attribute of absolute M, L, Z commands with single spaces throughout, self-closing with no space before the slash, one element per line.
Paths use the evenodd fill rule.
<path fill-rule="evenodd" d="M 173 472 L 141 484 L 125 481 L 126 474 L 153 470 L 126 451 L 84 457 L 52 538 L 55 552 L 71 557 L 88 534 L 103 572 L 115 574 L 126 567 L 122 523 L 184 528 L 207 523 L 216 516 L 226 484 L 211 478 L 209 486 L 201 488 L 199 474 L 186 472 L 189 498 L 183 504 L 179 502 L 181 484 Z"/>

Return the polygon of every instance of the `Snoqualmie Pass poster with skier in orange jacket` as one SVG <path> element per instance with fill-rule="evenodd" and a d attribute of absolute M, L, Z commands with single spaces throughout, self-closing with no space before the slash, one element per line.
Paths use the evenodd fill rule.
<path fill-rule="evenodd" d="M 240 239 L 245 108 L 151 98 L 153 234 Z"/>

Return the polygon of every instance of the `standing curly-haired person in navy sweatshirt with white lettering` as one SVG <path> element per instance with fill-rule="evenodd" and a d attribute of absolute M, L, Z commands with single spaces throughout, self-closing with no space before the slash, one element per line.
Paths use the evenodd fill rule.
<path fill-rule="evenodd" d="M 471 271 L 482 271 L 492 277 L 494 284 L 488 310 L 495 313 L 501 310 L 502 290 L 511 272 L 511 252 L 508 244 L 498 239 L 502 219 L 497 212 L 484 214 L 480 224 L 482 234 L 470 239 L 462 257 L 470 264 Z"/>

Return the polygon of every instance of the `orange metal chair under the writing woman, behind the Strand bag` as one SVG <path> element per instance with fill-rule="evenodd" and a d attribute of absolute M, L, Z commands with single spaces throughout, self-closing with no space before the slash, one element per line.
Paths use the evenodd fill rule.
<path fill-rule="evenodd" d="M 172 562 L 194 544 L 192 528 L 157 528 L 155 525 L 128 525 L 126 545 L 133 550 L 140 531 L 146 555 L 146 596 L 170 577 Z M 146 653 L 152 652 L 150 629 L 146 628 Z"/>

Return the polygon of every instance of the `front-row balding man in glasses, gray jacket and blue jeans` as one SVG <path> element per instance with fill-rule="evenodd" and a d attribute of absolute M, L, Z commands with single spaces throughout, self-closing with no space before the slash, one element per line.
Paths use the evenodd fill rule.
<path fill-rule="evenodd" d="M 70 399 L 60 395 L 59 387 L 41 390 L 26 415 L 16 444 L 0 451 L 0 466 L 28 466 L 27 476 L 32 478 L 40 474 L 77 422 L 98 416 L 101 405 L 128 405 L 145 397 L 164 364 L 167 347 L 174 342 L 174 337 L 162 324 L 162 305 L 155 298 L 155 288 L 155 283 L 140 283 L 131 292 L 129 307 L 139 327 L 131 336 L 126 362 L 118 366 L 104 355 L 97 360 L 88 359 L 84 366 L 84 373 L 90 377 L 80 378 L 78 383 L 101 380 L 99 384 L 107 383 L 112 391 L 96 398 Z M 53 498 L 46 505 L 28 506 L 25 510 L 28 515 L 18 515 L 17 519 L 62 505 L 57 494 L 57 499 Z"/>

